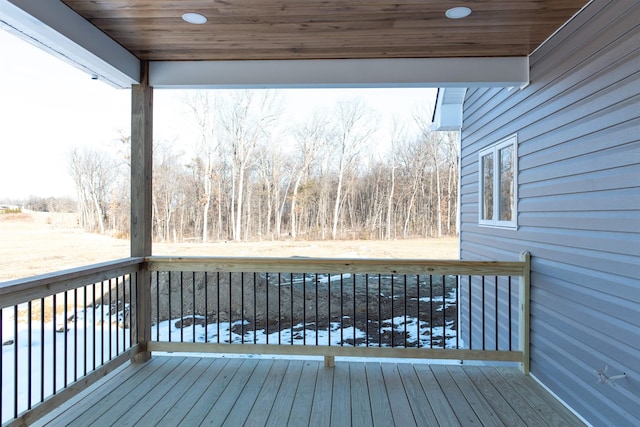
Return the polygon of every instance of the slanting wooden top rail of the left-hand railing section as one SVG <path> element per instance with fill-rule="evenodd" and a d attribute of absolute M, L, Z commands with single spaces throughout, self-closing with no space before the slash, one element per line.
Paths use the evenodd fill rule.
<path fill-rule="evenodd" d="M 144 258 L 130 257 L 0 283 L 0 308 L 47 297 L 87 283 L 140 270 Z"/>

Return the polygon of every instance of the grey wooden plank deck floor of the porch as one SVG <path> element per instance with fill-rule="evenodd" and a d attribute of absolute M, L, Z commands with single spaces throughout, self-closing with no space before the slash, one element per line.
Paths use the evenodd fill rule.
<path fill-rule="evenodd" d="M 580 426 L 518 370 L 469 365 L 154 356 L 37 425 Z"/>

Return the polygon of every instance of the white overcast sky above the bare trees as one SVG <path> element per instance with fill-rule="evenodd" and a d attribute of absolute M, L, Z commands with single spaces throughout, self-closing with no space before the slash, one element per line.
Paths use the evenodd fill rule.
<path fill-rule="evenodd" d="M 397 116 L 407 123 L 433 106 L 435 89 L 284 90 L 285 120 L 314 108 L 360 97 L 382 129 Z M 154 138 L 175 141 L 188 133 L 175 120 L 184 110 L 180 91 L 155 91 Z M 0 29 L 0 200 L 29 196 L 74 197 L 67 172 L 75 146 L 113 147 L 129 134 L 130 91 L 118 90 Z"/>

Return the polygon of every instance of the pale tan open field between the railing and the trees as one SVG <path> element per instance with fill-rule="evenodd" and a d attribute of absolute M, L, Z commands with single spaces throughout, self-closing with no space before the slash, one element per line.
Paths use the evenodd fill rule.
<path fill-rule="evenodd" d="M 153 254 L 456 259 L 458 239 L 156 243 Z M 0 215 L 0 282 L 128 256 L 128 240 L 85 233 L 75 214 Z"/>

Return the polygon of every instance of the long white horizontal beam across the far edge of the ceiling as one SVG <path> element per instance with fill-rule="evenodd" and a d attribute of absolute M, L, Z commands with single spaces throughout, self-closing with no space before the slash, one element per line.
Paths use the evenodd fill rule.
<path fill-rule="evenodd" d="M 156 88 L 523 86 L 529 58 L 168 61 L 149 64 Z"/>

